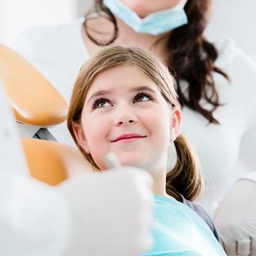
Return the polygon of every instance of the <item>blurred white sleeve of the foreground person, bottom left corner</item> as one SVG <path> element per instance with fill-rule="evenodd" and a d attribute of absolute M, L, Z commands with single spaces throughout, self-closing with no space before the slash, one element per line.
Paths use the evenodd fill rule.
<path fill-rule="evenodd" d="M 0 255 L 61 255 L 68 221 L 57 189 L 17 173 L 0 173 Z"/>

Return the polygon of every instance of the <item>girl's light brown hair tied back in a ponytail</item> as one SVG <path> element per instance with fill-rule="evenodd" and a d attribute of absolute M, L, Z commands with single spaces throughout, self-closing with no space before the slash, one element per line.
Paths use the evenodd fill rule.
<path fill-rule="evenodd" d="M 81 113 L 88 90 L 101 72 L 122 65 L 133 65 L 140 68 L 156 84 L 170 108 L 180 107 L 176 92 L 175 79 L 170 75 L 168 68 L 155 54 L 138 47 L 108 46 L 103 47 L 95 56 L 86 61 L 81 67 L 70 99 L 67 116 L 67 125 L 72 138 L 83 156 L 90 164 L 99 170 L 90 154 L 79 145 L 72 125 L 81 124 Z M 180 200 L 179 193 L 188 200 L 193 200 L 202 186 L 201 173 L 198 168 L 195 153 L 188 141 L 182 135 L 175 140 L 177 150 L 177 164 L 166 176 L 166 192 Z M 166 152 L 167 154 L 167 152 Z"/>

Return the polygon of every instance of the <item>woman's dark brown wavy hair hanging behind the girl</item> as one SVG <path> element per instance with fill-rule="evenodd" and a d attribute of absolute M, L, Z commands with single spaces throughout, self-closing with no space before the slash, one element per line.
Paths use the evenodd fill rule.
<path fill-rule="evenodd" d="M 218 52 L 216 47 L 207 41 L 203 35 L 210 6 L 211 0 L 188 0 L 184 6 L 188 16 L 188 24 L 173 29 L 170 33 L 167 43 L 169 61 L 166 64 L 170 70 L 175 70 L 177 74 L 177 90 L 181 106 L 188 106 L 205 116 L 210 123 L 219 124 L 218 120 L 214 118 L 213 112 L 222 104 L 216 91 L 212 72 L 217 72 L 226 79 L 228 76 L 223 70 L 214 66 Z M 102 3 L 102 0 L 95 0 L 95 10 L 99 15 L 104 13 L 107 19 L 113 22 L 113 38 L 108 42 L 100 42 L 99 38 L 93 38 L 86 28 L 87 19 L 84 21 L 84 30 L 95 44 L 109 45 L 118 36 L 115 16 Z M 184 90 L 180 88 L 179 81 L 181 80 L 188 82 L 186 95 Z M 212 108 L 205 108 L 204 104 L 200 102 L 201 99 L 205 99 Z"/>

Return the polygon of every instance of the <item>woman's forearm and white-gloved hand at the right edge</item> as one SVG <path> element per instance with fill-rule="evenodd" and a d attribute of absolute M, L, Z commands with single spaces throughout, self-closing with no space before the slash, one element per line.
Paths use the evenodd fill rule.
<path fill-rule="evenodd" d="M 251 172 L 237 180 L 214 216 L 221 243 L 228 255 L 256 255 L 255 152 L 256 127 L 244 134 L 239 159 L 241 166 Z"/>

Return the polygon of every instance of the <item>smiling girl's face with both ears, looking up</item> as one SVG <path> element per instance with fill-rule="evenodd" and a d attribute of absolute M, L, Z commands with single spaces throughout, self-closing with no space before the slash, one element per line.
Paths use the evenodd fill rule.
<path fill-rule="evenodd" d="M 169 141 L 180 126 L 180 109 L 170 109 L 156 84 L 138 67 L 124 65 L 99 74 L 90 86 L 74 124 L 77 141 L 100 170 L 106 155 L 122 165 L 156 172 L 166 170 Z"/>

